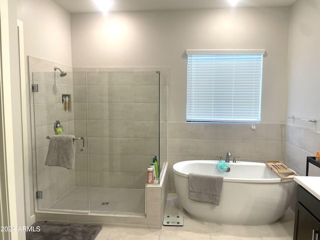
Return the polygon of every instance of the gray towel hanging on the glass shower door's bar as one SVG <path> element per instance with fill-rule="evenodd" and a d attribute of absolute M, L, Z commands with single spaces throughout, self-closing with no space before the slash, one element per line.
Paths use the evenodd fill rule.
<path fill-rule="evenodd" d="M 45 165 L 73 169 L 75 158 L 75 136 L 53 135 L 50 137 Z"/>

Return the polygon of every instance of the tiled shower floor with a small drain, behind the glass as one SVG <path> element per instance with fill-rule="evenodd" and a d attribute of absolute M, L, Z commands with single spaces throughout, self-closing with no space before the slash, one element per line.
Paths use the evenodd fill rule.
<path fill-rule="evenodd" d="M 90 212 L 144 213 L 145 189 L 90 188 Z M 108 202 L 108 204 L 101 204 Z M 88 210 L 87 187 L 74 187 L 50 209 Z"/>

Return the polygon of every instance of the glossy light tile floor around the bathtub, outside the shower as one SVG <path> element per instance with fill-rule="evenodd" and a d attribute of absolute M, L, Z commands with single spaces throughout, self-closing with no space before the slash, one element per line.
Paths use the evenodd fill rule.
<path fill-rule="evenodd" d="M 166 214 L 183 215 L 183 226 L 162 229 L 102 227 L 95 240 L 292 240 L 294 212 L 288 209 L 278 221 L 256 226 L 228 225 L 191 218 L 169 193 Z"/>

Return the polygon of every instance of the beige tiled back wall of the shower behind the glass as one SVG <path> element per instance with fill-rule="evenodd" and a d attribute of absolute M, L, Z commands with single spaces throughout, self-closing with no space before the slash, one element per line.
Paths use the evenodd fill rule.
<path fill-rule="evenodd" d="M 76 155 L 76 186 L 87 186 L 89 169 L 91 187 L 144 188 L 146 168 L 159 152 L 158 74 L 123 68 L 73 70 L 75 132 L 86 136 L 88 128 L 87 149 Z"/>

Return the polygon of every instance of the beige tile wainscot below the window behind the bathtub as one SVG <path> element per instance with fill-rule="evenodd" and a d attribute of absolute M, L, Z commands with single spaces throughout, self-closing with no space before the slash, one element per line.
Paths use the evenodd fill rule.
<path fill-rule="evenodd" d="M 230 151 L 243 161 L 281 160 L 284 124 L 260 123 L 256 130 L 243 123 L 169 122 L 168 184 L 175 191 L 172 166 L 183 160 L 225 158 Z"/>

